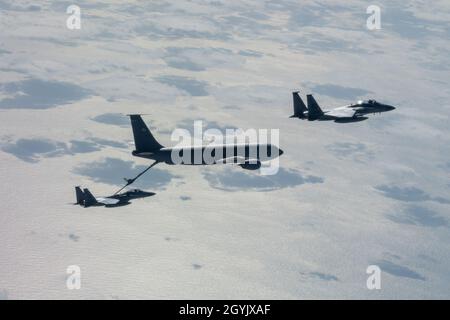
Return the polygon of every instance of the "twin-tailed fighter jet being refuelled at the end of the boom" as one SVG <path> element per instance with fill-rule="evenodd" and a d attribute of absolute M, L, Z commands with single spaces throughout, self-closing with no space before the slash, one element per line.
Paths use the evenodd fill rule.
<path fill-rule="evenodd" d="M 105 207 L 120 207 L 130 204 L 130 200 L 138 198 L 146 198 L 155 195 L 153 192 L 146 192 L 139 189 L 126 191 L 124 193 L 115 194 L 109 197 L 96 198 L 88 189 L 81 190 L 80 187 L 75 187 L 75 194 L 77 202 L 85 208 L 90 206 L 105 206 Z"/>

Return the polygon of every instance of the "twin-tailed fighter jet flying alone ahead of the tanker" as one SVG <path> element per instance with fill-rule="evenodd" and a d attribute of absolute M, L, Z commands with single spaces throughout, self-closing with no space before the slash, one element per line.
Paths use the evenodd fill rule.
<path fill-rule="evenodd" d="M 293 92 L 294 115 L 291 118 L 308 119 L 309 121 L 357 122 L 366 120 L 364 115 L 394 110 L 395 107 L 379 103 L 375 100 L 358 101 L 350 105 L 330 110 L 322 110 L 311 94 L 308 94 L 305 106 L 298 92 Z"/>

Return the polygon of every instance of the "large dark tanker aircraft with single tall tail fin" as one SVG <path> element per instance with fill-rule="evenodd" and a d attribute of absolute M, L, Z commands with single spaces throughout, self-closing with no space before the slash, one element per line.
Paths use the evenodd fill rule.
<path fill-rule="evenodd" d="M 182 164 L 182 165 L 211 165 L 234 163 L 246 170 L 256 170 L 261 167 L 261 162 L 269 161 L 283 154 L 283 150 L 272 144 L 218 144 L 213 146 L 183 146 L 164 147 L 153 137 L 152 133 L 144 123 L 140 115 L 129 115 L 135 150 L 133 156 L 152 159 L 156 163 Z M 194 159 L 195 154 L 209 155 L 208 161 L 201 156 L 198 162 L 185 161 Z M 180 161 L 174 161 L 177 155 Z M 127 180 L 132 183 L 133 179 Z"/>

